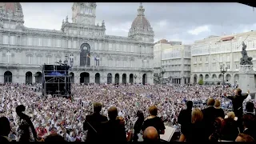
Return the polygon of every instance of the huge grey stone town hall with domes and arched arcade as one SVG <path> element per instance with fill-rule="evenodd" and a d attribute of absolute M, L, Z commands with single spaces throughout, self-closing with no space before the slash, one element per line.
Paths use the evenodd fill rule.
<path fill-rule="evenodd" d="M 74 2 L 61 30 L 23 26 L 22 6 L 0 2 L 0 82 L 42 82 L 42 65 L 68 60 L 73 82 L 153 83 L 154 31 L 140 4 L 128 37 L 95 25 L 95 2 Z"/>

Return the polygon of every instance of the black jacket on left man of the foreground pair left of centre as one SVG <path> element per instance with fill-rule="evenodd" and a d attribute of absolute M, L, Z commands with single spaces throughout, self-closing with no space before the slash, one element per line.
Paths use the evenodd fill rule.
<path fill-rule="evenodd" d="M 107 118 L 106 116 L 102 114 L 90 114 L 86 115 L 86 121 L 83 122 L 83 130 L 88 130 L 86 142 L 97 142 L 100 135 L 102 134 L 102 128 L 101 123 L 106 122 Z M 94 130 L 97 131 L 97 133 L 89 126 L 87 123 L 89 122 L 91 126 L 93 126 Z"/>

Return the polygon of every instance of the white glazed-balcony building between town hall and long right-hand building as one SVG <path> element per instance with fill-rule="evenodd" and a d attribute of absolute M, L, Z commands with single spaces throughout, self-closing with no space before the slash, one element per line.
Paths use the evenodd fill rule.
<path fill-rule="evenodd" d="M 162 39 L 154 45 L 154 75 L 174 84 L 190 83 L 190 47 Z M 160 82 L 161 83 L 161 82 Z"/>

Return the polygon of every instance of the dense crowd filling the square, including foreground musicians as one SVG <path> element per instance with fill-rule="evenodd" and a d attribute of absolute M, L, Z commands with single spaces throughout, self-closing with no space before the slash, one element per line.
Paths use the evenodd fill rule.
<path fill-rule="evenodd" d="M 159 135 L 165 134 L 166 126 L 178 131 L 181 126 L 180 141 L 198 141 L 194 130 L 202 134 L 202 140 L 224 138 L 245 141 L 246 138 L 255 138 L 254 131 L 249 128 L 252 125 L 249 121 L 254 118 L 247 122 L 247 117 L 243 116 L 243 110 L 246 114 L 254 112 L 254 108 L 251 111 L 254 102 L 250 102 L 247 96 L 232 96 L 240 94 L 239 90 L 234 94 L 233 88 L 74 84 L 71 98 L 38 95 L 40 89 L 39 85 L 0 86 L 0 125 L 5 127 L 6 119 L 10 122 L 9 132 L 8 127 L 2 129 L 6 132 L 1 132 L 1 136 L 5 134 L 8 141 L 59 138 L 67 142 L 95 142 L 100 139 L 136 142 L 159 140 Z M 228 112 L 232 107 L 234 113 Z M 216 118 L 220 122 L 223 120 L 225 126 L 230 119 L 238 118 L 232 122 L 236 123 L 236 130 L 240 130 L 239 135 L 235 133 L 234 137 L 225 139 L 226 129 L 217 129 Z M 246 130 L 250 132 L 246 133 Z M 229 135 L 228 132 L 225 134 Z"/>

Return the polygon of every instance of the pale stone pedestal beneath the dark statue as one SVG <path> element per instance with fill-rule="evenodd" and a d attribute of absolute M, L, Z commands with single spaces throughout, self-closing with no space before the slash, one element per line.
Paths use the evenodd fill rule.
<path fill-rule="evenodd" d="M 251 94 L 256 92 L 253 68 L 253 65 L 240 65 L 238 87 L 242 90 L 242 94 L 245 94 L 247 90 L 250 90 Z"/>

